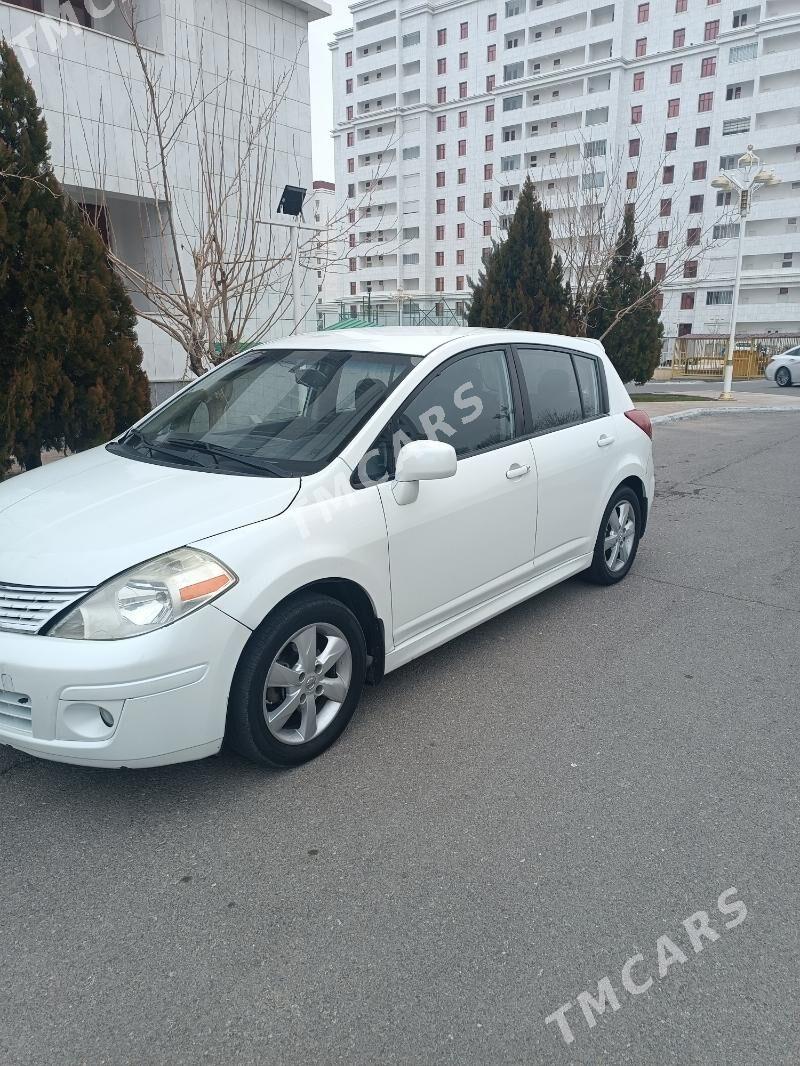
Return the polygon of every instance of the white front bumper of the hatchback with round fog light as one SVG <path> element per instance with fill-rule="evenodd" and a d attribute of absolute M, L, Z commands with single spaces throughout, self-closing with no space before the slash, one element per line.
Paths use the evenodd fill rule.
<path fill-rule="evenodd" d="M 0 744 L 109 768 L 213 755 L 250 635 L 214 604 L 123 641 L 0 633 Z"/>

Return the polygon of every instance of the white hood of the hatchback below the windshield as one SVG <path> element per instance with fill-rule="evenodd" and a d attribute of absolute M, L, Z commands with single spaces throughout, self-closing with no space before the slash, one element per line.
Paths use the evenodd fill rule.
<path fill-rule="evenodd" d="M 182 470 L 94 448 L 0 484 L 0 582 L 99 584 L 279 515 L 299 489 L 299 478 Z"/>

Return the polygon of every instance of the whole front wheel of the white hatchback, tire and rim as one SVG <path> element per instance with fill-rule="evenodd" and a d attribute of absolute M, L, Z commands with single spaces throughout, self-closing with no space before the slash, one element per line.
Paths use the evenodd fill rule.
<path fill-rule="evenodd" d="M 245 758 L 297 766 L 316 758 L 353 715 L 366 671 L 355 615 L 329 596 L 302 596 L 257 630 L 237 667 L 227 741 Z"/>

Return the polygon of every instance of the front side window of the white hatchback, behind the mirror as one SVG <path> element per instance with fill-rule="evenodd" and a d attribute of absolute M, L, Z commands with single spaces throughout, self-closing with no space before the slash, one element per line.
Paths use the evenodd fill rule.
<path fill-rule="evenodd" d="M 443 440 L 459 458 L 514 435 L 506 355 L 476 352 L 448 364 L 401 411 L 395 455 L 410 440 Z"/>

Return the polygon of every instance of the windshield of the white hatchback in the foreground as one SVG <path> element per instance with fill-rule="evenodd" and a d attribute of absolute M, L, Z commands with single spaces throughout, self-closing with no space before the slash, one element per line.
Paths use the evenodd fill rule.
<path fill-rule="evenodd" d="M 262 477 L 326 466 L 419 356 L 329 349 L 249 352 L 129 430 L 131 458 Z"/>

